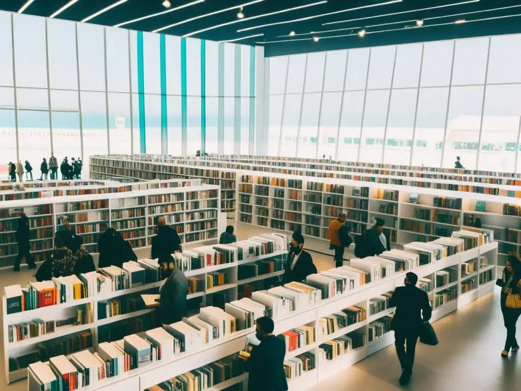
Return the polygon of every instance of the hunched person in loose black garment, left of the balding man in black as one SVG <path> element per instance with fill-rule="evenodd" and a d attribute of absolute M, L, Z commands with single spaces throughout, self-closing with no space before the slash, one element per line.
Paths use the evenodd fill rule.
<path fill-rule="evenodd" d="M 107 267 L 110 265 L 122 267 L 124 262 L 137 261 L 138 256 L 135 255 L 130 243 L 122 238 L 121 234 L 114 228 L 107 228 L 106 223 L 101 224 L 100 239 L 97 242 L 100 258 L 98 267 Z"/>

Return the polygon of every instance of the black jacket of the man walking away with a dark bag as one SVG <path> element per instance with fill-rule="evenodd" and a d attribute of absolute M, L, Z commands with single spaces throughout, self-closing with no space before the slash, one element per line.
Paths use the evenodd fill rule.
<path fill-rule="evenodd" d="M 391 329 L 394 331 L 416 332 L 421 324 L 428 322 L 432 314 L 427 292 L 414 285 L 394 289 L 389 307 L 396 307 Z"/>

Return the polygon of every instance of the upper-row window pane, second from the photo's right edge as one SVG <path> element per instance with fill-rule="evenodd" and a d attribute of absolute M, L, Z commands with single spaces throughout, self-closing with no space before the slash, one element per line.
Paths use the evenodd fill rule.
<path fill-rule="evenodd" d="M 452 85 L 485 83 L 488 44 L 488 38 L 456 41 Z"/>

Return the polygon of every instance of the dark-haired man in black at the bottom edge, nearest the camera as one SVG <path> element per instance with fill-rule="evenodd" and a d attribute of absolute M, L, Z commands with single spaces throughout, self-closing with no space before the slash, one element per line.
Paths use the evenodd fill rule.
<path fill-rule="evenodd" d="M 288 382 L 284 373 L 286 343 L 273 334 L 275 324 L 268 316 L 259 317 L 255 326 L 255 337 L 260 344 L 251 350 L 246 363 L 248 391 L 287 391 Z"/>

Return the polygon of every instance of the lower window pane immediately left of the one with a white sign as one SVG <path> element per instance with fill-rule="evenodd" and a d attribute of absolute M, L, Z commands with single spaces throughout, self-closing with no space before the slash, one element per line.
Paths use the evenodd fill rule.
<path fill-rule="evenodd" d="M 108 153 L 107 141 L 107 108 L 104 92 L 80 93 L 81 125 L 83 132 L 83 160 L 87 162 L 90 155 Z M 135 101 L 137 104 L 137 99 Z M 138 107 L 138 106 L 135 106 Z M 139 112 L 135 110 L 134 113 Z M 135 124 L 139 124 L 135 123 Z M 139 151 L 135 149 L 134 152 Z"/>

